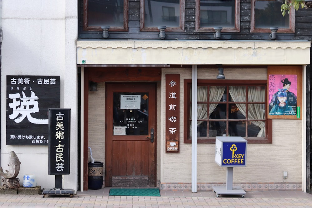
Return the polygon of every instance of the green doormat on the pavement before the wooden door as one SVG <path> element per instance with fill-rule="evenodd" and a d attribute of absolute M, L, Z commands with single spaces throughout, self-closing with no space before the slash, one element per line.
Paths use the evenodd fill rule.
<path fill-rule="evenodd" d="M 160 196 L 158 188 L 111 188 L 109 196 Z"/>

